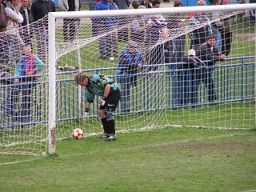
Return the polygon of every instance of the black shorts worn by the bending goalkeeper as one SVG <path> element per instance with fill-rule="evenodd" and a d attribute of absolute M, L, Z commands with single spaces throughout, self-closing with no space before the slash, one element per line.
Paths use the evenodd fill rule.
<path fill-rule="evenodd" d="M 106 98 L 105 106 L 100 106 L 99 109 L 100 110 L 111 109 L 112 111 L 114 111 L 118 106 L 118 102 L 119 102 L 120 98 L 121 98 L 121 94 L 120 94 L 119 89 L 118 90 L 110 90 L 110 94 Z"/>

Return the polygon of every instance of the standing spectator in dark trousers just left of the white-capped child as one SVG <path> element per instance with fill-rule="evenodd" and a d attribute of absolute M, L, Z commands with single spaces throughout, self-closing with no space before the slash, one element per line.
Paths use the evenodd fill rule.
<path fill-rule="evenodd" d="M 174 7 L 182 7 L 181 1 L 174 1 Z M 182 62 L 184 57 L 184 49 L 186 43 L 186 34 L 183 34 L 185 30 L 185 15 L 184 14 L 169 14 L 166 18 L 167 29 L 171 34 L 180 35 L 178 38 L 171 39 L 166 42 L 165 48 L 165 62 L 175 63 Z M 182 35 L 181 35 L 182 34 Z"/>

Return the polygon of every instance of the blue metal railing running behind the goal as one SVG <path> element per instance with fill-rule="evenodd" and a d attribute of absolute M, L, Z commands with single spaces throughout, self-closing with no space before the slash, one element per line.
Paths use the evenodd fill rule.
<path fill-rule="evenodd" d="M 214 92 L 216 98 L 214 104 L 226 102 L 245 102 L 255 99 L 255 62 L 249 61 L 255 57 L 229 58 L 227 61 L 237 61 L 237 64 L 225 66 L 208 66 L 205 70 L 212 70 L 214 79 Z M 240 61 L 240 62 L 238 62 Z M 254 61 L 254 60 L 253 60 Z M 190 102 L 190 90 L 183 92 L 187 102 L 180 101 L 179 91 L 181 87 L 178 74 L 186 76 L 194 69 L 174 70 L 177 64 L 161 64 L 158 71 L 141 72 L 138 76 L 137 86 L 130 88 L 130 112 L 138 113 L 150 110 L 171 109 L 180 107 L 204 106 L 210 103 L 205 85 L 201 82 L 198 86 L 198 102 Z M 117 67 L 102 68 L 97 70 L 84 70 L 87 73 L 102 73 L 106 70 L 117 70 Z M 161 70 L 162 69 L 162 70 Z M 170 69 L 170 70 L 168 70 Z M 74 74 L 76 71 L 58 73 Z M 41 76 L 47 76 L 42 74 Z M 126 74 L 127 77 L 127 74 Z M 193 75 L 188 75 L 188 82 L 193 81 Z M 117 82 L 116 75 L 110 75 Z M 23 83 L 26 85 L 26 83 Z M 48 122 L 48 82 L 31 82 L 34 84 L 31 94 L 31 116 L 30 121 L 18 119 L 22 116 L 24 98 L 18 92 L 16 84 L 2 85 L 0 87 L 0 128 L 26 125 L 37 125 Z M 19 84 L 22 86 L 22 84 Z M 66 121 L 78 118 L 78 87 L 74 86 L 73 79 L 62 79 L 57 81 L 57 121 Z M 15 93 L 14 93 L 15 92 Z M 18 94 L 17 94 L 18 93 Z M 82 91 L 82 110 L 85 107 L 85 93 Z M 94 102 L 90 115 L 98 118 L 98 102 Z M 116 114 L 126 114 L 118 105 Z"/>

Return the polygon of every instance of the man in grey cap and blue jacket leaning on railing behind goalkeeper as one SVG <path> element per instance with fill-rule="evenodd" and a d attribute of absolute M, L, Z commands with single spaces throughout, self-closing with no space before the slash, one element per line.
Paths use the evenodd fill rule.
<path fill-rule="evenodd" d="M 127 69 L 119 69 L 117 72 L 118 82 L 121 84 L 121 110 L 122 112 L 130 111 L 130 86 L 137 85 L 137 73 L 144 60 L 140 50 L 137 49 L 138 44 L 129 41 L 126 49 L 122 52 L 118 67 L 126 67 Z"/>

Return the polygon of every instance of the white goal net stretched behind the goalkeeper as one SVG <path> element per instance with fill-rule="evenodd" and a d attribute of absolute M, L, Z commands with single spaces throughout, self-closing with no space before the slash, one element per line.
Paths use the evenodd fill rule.
<path fill-rule="evenodd" d="M 24 82 L 16 82 L 15 72 L 22 44 L 2 33 L 0 153 L 54 153 L 55 140 L 71 139 L 75 128 L 86 136 L 102 134 L 101 97 L 89 121 L 82 119 L 86 96 L 74 84 L 78 72 L 118 82 L 117 134 L 166 126 L 255 128 L 253 9 L 255 4 L 50 13 L 19 29 L 45 64 Z"/>

